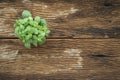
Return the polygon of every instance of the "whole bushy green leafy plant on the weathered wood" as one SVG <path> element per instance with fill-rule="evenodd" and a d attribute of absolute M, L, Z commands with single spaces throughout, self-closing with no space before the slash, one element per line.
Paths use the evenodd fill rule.
<path fill-rule="evenodd" d="M 16 20 L 14 28 L 15 36 L 24 43 L 26 48 L 31 48 L 31 45 L 37 47 L 45 43 L 46 37 L 50 33 L 46 20 L 39 16 L 32 18 L 32 14 L 28 10 L 22 12 L 22 18 Z"/>

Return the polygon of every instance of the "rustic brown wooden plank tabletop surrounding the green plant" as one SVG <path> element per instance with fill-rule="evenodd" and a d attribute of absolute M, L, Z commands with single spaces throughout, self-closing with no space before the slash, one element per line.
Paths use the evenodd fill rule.
<path fill-rule="evenodd" d="M 14 36 L 24 9 L 47 20 L 44 45 Z M 120 0 L 0 0 L 0 80 L 120 80 Z"/>

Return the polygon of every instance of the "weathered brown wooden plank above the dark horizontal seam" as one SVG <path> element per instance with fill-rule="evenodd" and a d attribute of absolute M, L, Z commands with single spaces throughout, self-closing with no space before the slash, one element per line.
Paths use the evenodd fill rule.
<path fill-rule="evenodd" d="M 15 38 L 22 10 L 46 18 L 49 38 L 120 38 L 120 0 L 1 0 L 0 38 Z"/>

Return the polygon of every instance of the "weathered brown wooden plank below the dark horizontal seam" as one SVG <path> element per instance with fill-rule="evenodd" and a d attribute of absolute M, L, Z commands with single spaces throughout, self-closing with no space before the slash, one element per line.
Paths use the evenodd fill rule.
<path fill-rule="evenodd" d="M 32 49 L 0 39 L 0 79 L 119 80 L 119 48 L 119 39 L 48 39 Z"/>

